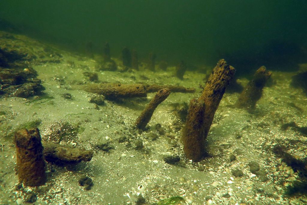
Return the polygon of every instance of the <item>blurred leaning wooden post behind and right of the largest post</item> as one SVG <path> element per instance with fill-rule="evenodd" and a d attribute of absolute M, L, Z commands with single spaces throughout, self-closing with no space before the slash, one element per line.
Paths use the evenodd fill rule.
<path fill-rule="evenodd" d="M 254 78 L 244 87 L 236 102 L 236 106 L 239 108 L 254 109 L 257 101 L 262 96 L 262 89 L 271 74 L 271 72 L 266 71 L 265 66 L 261 66 L 255 72 Z"/>

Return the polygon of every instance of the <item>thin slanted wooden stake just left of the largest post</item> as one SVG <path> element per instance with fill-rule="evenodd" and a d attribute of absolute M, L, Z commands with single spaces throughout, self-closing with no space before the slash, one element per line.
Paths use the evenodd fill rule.
<path fill-rule="evenodd" d="M 151 116 L 153 115 L 154 110 L 157 106 L 162 103 L 170 93 L 169 88 L 163 88 L 157 92 L 153 99 L 148 103 L 146 108 L 142 111 L 140 116 L 137 118 L 135 125 L 138 129 L 143 130 L 147 123 L 150 121 Z"/>

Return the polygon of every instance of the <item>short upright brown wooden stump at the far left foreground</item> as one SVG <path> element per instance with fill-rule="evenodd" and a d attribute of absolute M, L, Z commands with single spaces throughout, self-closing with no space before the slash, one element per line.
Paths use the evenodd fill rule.
<path fill-rule="evenodd" d="M 26 186 L 45 184 L 45 161 L 39 130 L 22 129 L 15 132 L 17 173 Z"/>

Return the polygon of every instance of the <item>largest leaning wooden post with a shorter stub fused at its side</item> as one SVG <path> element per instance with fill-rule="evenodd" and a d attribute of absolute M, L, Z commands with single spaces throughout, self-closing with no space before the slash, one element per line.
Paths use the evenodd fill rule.
<path fill-rule="evenodd" d="M 192 99 L 183 130 L 184 151 L 189 159 L 198 162 L 204 156 L 204 140 L 211 127 L 214 114 L 225 93 L 235 68 L 219 60 L 198 99 Z"/>

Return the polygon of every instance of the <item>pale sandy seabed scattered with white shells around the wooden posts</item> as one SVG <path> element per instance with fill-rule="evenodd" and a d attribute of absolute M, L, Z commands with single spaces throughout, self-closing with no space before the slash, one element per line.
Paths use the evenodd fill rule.
<path fill-rule="evenodd" d="M 21 35 L 0 32 L 0 36 L 1 49 L 36 56 L 28 63 L 45 87 L 39 97 L 0 98 L 0 204 L 26 203 L 33 195 L 37 197 L 33 204 L 307 203 L 304 194 L 286 194 L 289 187 L 305 180 L 301 171 L 272 152 L 284 145 L 296 159 L 305 161 L 307 154 L 307 134 L 282 129 L 288 122 L 307 126 L 307 96 L 290 86 L 294 72 L 273 71 L 273 83 L 264 88 L 252 113 L 234 108 L 239 93 L 226 92 L 207 137 L 208 157 L 193 163 L 183 152 L 184 122 L 177 110 L 200 96 L 199 85 L 204 85 L 207 74 L 187 71 L 180 80 L 174 75 L 175 67 L 156 72 L 144 68 L 97 71 L 99 60 Z M 133 128 L 135 120 L 155 93 L 116 102 L 106 99 L 97 107 L 88 101 L 93 94 L 82 89 L 92 83 L 84 72 L 96 72 L 97 82 L 178 84 L 196 92 L 171 92 L 155 110 L 148 129 L 141 132 Z M 248 80 L 238 82 L 244 86 Z M 64 98 L 67 93 L 72 97 Z M 158 132 L 156 124 L 164 133 Z M 14 170 L 14 131 L 31 127 L 38 127 L 42 140 L 93 150 L 92 160 L 67 165 L 47 162 L 45 185 L 20 185 Z M 166 163 L 167 156 L 179 156 L 180 161 Z M 257 164 L 259 170 L 251 170 Z M 90 190 L 79 185 L 83 176 L 92 179 Z M 175 202 L 167 201 L 170 198 Z"/>

